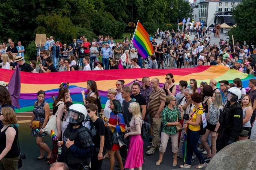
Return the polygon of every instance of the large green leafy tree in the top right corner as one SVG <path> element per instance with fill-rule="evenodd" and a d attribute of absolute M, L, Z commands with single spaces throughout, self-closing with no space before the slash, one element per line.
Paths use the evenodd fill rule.
<path fill-rule="evenodd" d="M 232 42 L 232 34 L 234 41 L 246 41 L 248 45 L 256 45 L 256 8 L 254 0 L 242 0 L 233 10 L 233 18 L 235 19 L 236 27 L 233 27 L 228 35 Z M 235 43 L 236 44 L 236 43 Z"/>

